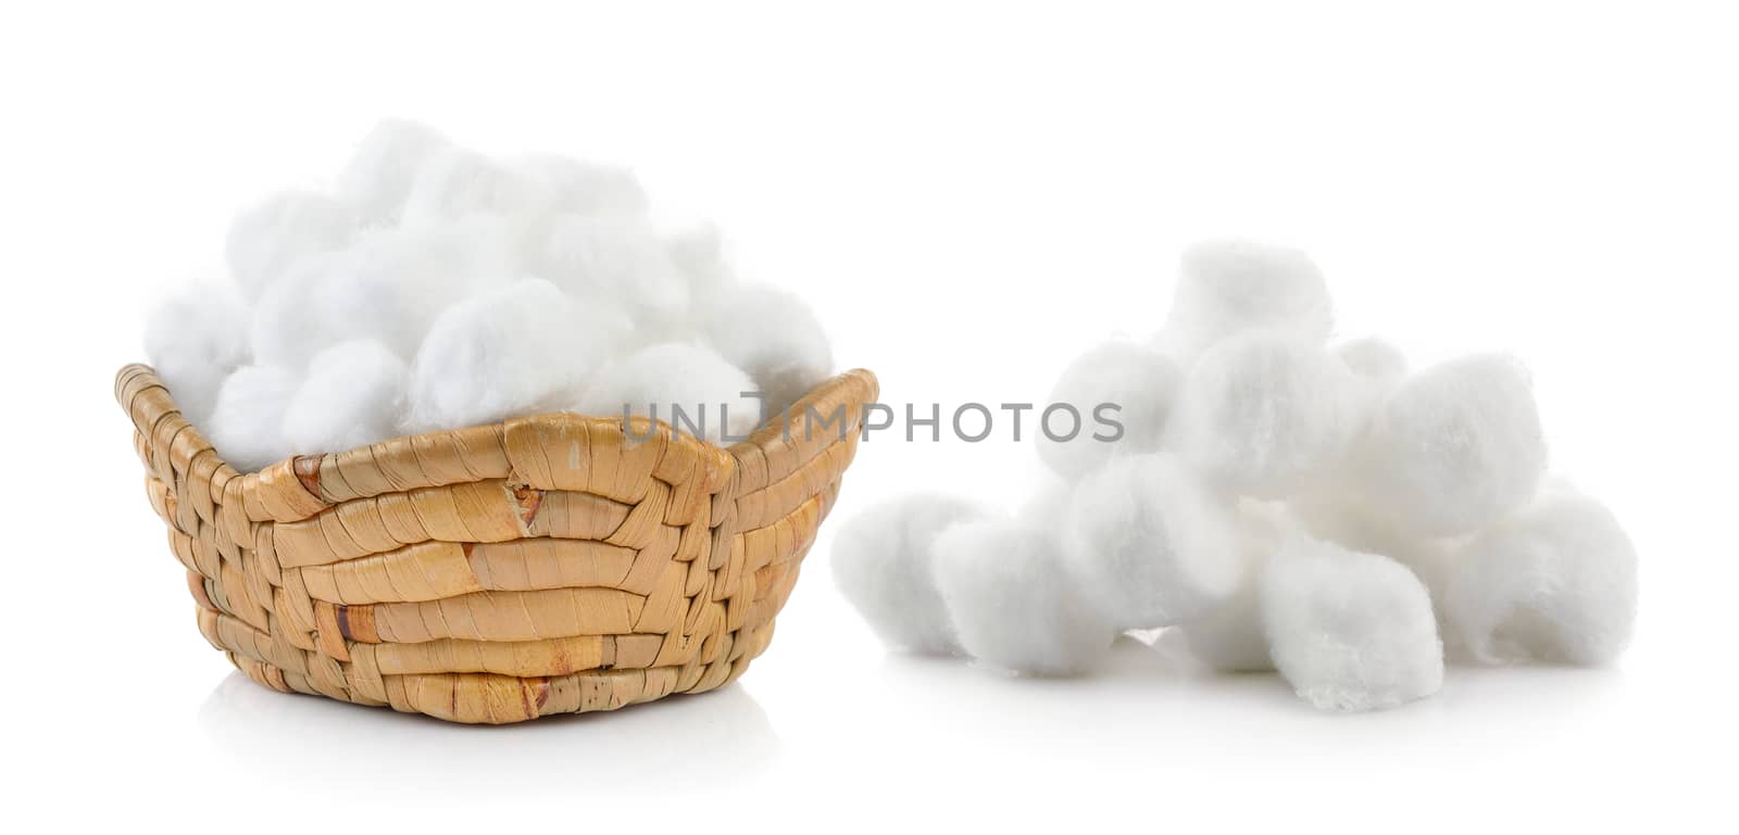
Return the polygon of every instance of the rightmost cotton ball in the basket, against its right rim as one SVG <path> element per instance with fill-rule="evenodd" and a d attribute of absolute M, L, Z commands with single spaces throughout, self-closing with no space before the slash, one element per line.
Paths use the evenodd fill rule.
<path fill-rule="evenodd" d="M 722 292 L 706 321 L 706 344 L 755 378 L 777 415 L 833 373 L 833 347 L 816 312 L 770 285 Z"/>

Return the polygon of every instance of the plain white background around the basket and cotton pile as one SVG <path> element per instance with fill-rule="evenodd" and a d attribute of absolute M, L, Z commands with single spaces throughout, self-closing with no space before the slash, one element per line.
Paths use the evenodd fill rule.
<path fill-rule="evenodd" d="M 1732 823 L 1723 3 L 612 5 L 635 10 L 0 12 L 12 816 Z M 722 693 L 476 729 L 259 689 L 195 630 L 110 380 L 141 359 L 144 306 L 217 269 L 230 212 L 316 184 L 381 115 L 635 165 L 718 220 L 744 274 L 810 299 L 889 403 L 1038 399 L 1076 351 L 1160 323 L 1184 241 L 1299 243 L 1344 335 L 1532 365 L 1555 467 L 1642 552 L 1635 644 L 1603 670 L 1452 668 L 1433 700 L 1353 717 L 1165 639 L 1092 679 L 1009 680 L 887 656 L 833 590 L 824 528 L 772 648 Z M 876 439 L 838 514 L 916 486 L 1014 503 L 1033 472 L 1005 439 Z"/>

